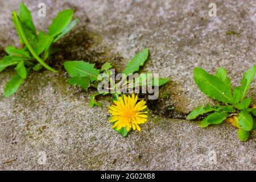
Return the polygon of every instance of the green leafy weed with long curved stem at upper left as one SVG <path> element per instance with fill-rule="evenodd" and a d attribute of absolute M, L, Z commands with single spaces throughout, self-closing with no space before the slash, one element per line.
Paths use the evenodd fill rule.
<path fill-rule="evenodd" d="M 72 30 L 79 22 L 79 19 L 72 20 L 72 18 L 72 9 L 61 11 L 48 27 L 48 32 L 39 31 L 37 33 L 31 13 L 23 2 L 20 3 L 19 15 L 13 11 L 13 23 L 22 48 L 6 47 L 5 51 L 8 55 L 0 60 L 0 72 L 7 67 L 15 66 L 14 69 L 17 73 L 5 86 L 6 97 L 16 93 L 31 69 L 39 71 L 44 67 L 54 73 L 57 72 L 49 67 L 46 61 L 57 51 L 56 48 L 52 47 L 52 44 Z"/>

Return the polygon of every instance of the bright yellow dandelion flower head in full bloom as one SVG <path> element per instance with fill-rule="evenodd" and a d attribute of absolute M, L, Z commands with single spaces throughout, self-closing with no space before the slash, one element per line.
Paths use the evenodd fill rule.
<path fill-rule="evenodd" d="M 126 97 L 123 96 L 123 99 L 119 97 L 118 101 L 114 101 L 114 104 L 109 106 L 109 113 L 112 114 L 109 121 L 114 123 L 112 129 L 117 127 L 117 130 L 120 130 L 122 127 L 126 127 L 126 131 L 133 130 L 141 131 L 139 124 L 145 123 L 147 121 L 147 111 L 142 111 L 146 109 L 146 102 L 139 101 L 137 104 L 138 96 Z"/>

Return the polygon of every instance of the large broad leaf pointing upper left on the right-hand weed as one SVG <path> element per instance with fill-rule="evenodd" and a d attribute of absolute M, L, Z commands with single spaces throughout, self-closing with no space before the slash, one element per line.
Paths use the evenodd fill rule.
<path fill-rule="evenodd" d="M 233 104 L 233 96 L 229 86 L 217 76 L 210 75 L 202 68 L 194 69 L 194 80 L 201 92 L 221 102 Z"/>

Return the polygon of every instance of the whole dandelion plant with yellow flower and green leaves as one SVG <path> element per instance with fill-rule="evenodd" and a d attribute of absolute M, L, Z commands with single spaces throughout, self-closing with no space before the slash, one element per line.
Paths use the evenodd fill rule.
<path fill-rule="evenodd" d="M 132 80 L 130 82 L 127 81 L 127 77 L 129 77 L 134 72 L 139 71 L 139 67 L 141 67 L 145 61 L 148 59 L 148 49 L 145 48 L 141 52 L 138 52 L 137 55 L 127 63 L 125 69 L 123 70 L 123 76 L 121 81 L 114 81 L 112 79 L 114 75 L 114 72 L 112 72 L 112 65 L 108 62 L 104 63 L 101 67 L 101 69 L 94 68 L 94 64 L 90 64 L 85 61 L 66 61 L 64 63 L 64 68 L 68 72 L 70 78 L 67 80 L 67 82 L 71 85 L 79 85 L 82 89 L 88 90 L 88 88 L 91 86 L 93 88 L 98 89 L 99 84 L 104 81 L 105 78 L 109 78 L 106 83 L 107 90 L 103 92 L 96 92 L 90 96 L 90 103 L 89 106 L 93 107 L 101 106 L 99 102 L 96 101 L 96 96 L 106 94 L 112 94 L 114 100 L 114 104 L 110 106 L 110 113 L 112 114 L 112 117 L 110 117 L 110 122 L 113 123 L 113 129 L 117 131 L 118 133 L 122 134 L 124 137 L 127 135 L 127 133 L 133 129 L 141 130 L 138 126 L 139 123 L 146 122 L 145 113 L 143 113 L 141 110 L 145 109 L 146 102 L 138 102 L 137 106 L 135 106 L 138 97 L 136 96 L 128 96 L 126 97 L 124 91 L 127 91 L 127 89 L 134 89 L 137 86 L 140 88 L 144 86 L 148 86 L 147 81 L 143 81 L 142 74 L 139 75 L 135 80 Z M 150 80 L 151 86 L 162 86 L 166 84 L 169 80 L 167 78 L 158 78 L 152 76 L 152 73 L 146 73 L 143 75 L 146 77 L 146 80 Z M 135 84 L 134 84 L 135 81 Z M 112 86 L 109 86 L 112 85 Z M 120 88 L 120 89 L 118 89 Z M 112 91 L 112 92 L 110 92 Z M 133 104 L 131 104 L 133 102 Z M 123 107 L 121 107 L 119 104 L 123 103 Z M 143 103 L 143 105 L 141 105 Z M 139 108 L 137 108 L 139 107 Z M 125 119 L 123 117 L 117 117 L 111 110 L 119 110 L 119 114 L 125 114 Z M 141 109 L 141 110 L 140 110 Z M 127 114 L 129 113 L 129 114 Z M 135 119 L 134 122 L 132 122 L 131 117 L 133 115 L 137 115 L 137 120 Z M 139 116 L 141 115 L 141 117 Z M 142 118 L 144 117 L 144 118 Z M 130 122 L 128 122 L 130 121 Z M 138 121 L 138 122 L 136 122 Z"/>

